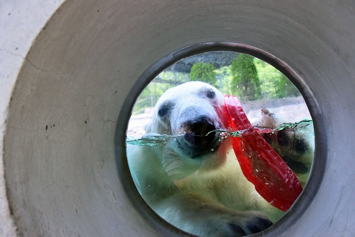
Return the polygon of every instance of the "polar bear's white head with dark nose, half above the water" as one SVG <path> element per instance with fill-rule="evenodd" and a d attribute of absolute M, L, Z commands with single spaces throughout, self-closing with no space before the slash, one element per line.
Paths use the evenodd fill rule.
<path fill-rule="evenodd" d="M 207 83 L 178 85 L 159 98 L 146 132 L 185 134 L 177 139 L 179 148 L 191 158 L 199 157 L 220 144 L 216 132 L 210 131 L 224 128 L 220 119 L 223 106 L 222 93 Z"/>

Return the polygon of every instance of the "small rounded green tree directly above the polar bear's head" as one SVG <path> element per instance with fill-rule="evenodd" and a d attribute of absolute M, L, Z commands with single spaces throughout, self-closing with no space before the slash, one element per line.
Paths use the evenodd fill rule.
<path fill-rule="evenodd" d="M 216 73 L 211 63 L 195 63 L 190 71 L 190 79 L 192 81 L 203 81 L 216 86 Z"/>

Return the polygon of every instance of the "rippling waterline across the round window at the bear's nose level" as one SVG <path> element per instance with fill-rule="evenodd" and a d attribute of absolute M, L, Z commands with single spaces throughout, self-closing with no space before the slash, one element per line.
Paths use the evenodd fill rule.
<path fill-rule="evenodd" d="M 251 128 L 251 129 L 259 129 L 261 130 L 260 133 L 269 133 L 269 132 L 277 132 L 280 130 L 284 129 L 303 129 L 306 128 L 307 126 L 313 126 L 313 120 L 311 118 L 303 118 L 300 121 L 297 122 L 287 122 L 287 123 L 282 123 L 275 129 L 269 129 L 269 128 Z M 238 131 L 228 131 L 224 129 L 217 129 L 217 130 L 212 130 L 205 134 L 204 136 L 207 136 L 211 132 L 216 132 L 219 139 L 222 141 L 224 138 L 228 136 L 233 136 L 233 137 L 241 137 L 241 134 L 246 130 L 238 130 Z M 132 136 L 127 136 L 126 142 L 130 145 L 137 145 L 137 146 L 160 146 L 163 145 L 169 141 L 173 141 L 178 137 L 184 136 L 185 133 L 182 133 L 180 135 L 161 135 L 157 133 L 147 133 L 144 134 L 141 138 L 135 138 Z M 313 134 L 314 135 L 314 134 Z"/>

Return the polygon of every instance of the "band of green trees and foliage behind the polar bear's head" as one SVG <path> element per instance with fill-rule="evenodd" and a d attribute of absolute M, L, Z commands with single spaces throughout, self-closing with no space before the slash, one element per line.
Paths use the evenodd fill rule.
<path fill-rule="evenodd" d="M 270 64 L 240 53 L 229 66 L 216 69 L 213 64 L 195 63 L 190 73 L 161 72 L 141 93 L 133 114 L 144 113 L 154 107 L 167 89 L 187 81 L 203 81 L 218 88 L 223 94 L 237 95 L 240 101 L 276 99 L 301 95 L 281 72 Z"/>

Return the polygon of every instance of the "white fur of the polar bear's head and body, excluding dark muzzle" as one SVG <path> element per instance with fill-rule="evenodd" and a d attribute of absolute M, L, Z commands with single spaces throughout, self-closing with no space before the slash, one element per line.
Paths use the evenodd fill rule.
<path fill-rule="evenodd" d="M 211 89 L 213 99 L 206 97 Z M 162 105 L 169 108 L 163 118 L 158 115 Z M 201 115 L 222 129 L 221 106 L 224 97 L 216 88 L 202 82 L 185 83 L 161 96 L 146 131 L 182 134 L 183 123 Z M 283 212 L 260 197 L 246 180 L 231 148 L 227 138 L 217 151 L 192 159 L 176 142 L 158 147 L 127 145 L 127 157 L 142 197 L 174 226 L 198 236 L 238 236 L 233 224 L 249 235 L 253 231 L 248 225 L 258 226 L 260 218 L 275 222 Z"/>

